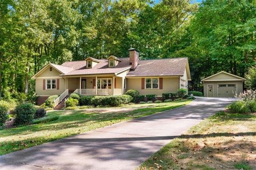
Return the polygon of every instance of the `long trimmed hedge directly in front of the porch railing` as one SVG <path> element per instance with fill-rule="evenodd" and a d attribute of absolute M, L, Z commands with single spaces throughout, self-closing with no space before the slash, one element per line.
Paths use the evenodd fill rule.
<path fill-rule="evenodd" d="M 94 106 L 120 106 L 131 101 L 132 97 L 130 95 L 95 96 L 92 98 L 91 103 Z"/>

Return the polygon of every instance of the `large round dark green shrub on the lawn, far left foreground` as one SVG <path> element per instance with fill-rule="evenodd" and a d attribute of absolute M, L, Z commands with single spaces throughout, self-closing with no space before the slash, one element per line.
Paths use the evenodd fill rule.
<path fill-rule="evenodd" d="M 35 112 L 35 105 L 31 103 L 22 103 L 18 105 L 15 108 L 16 118 L 14 120 L 14 124 L 20 125 L 32 123 Z"/>

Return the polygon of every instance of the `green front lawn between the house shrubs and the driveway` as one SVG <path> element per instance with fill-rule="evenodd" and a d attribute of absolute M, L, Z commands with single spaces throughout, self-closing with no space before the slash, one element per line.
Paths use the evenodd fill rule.
<path fill-rule="evenodd" d="M 95 113 L 86 110 L 52 111 L 47 113 L 47 117 L 57 117 L 58 119 L 53 118 L 52 120 L 49 118 L 49 122 L 49 119 L 46 117 L 42 120 L 36 120 L 34 122 L 36 124 L 0 130 L 0 155 L 41 145 L 42 143 L 69 137 L 114 123 L 181 107 L 190 103 L 190 101 L 183 100 L 171 103 L 124 106 L 126 108 L 136 108 L 130 112 Z"/>

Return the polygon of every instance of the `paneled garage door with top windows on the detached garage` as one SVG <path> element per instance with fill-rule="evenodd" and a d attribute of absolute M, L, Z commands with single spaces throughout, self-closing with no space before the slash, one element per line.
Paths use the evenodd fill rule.
<path fill-rule="evenodd" d="M 218 84 L 218 97 L 234 97 L 236 84 Z"/>

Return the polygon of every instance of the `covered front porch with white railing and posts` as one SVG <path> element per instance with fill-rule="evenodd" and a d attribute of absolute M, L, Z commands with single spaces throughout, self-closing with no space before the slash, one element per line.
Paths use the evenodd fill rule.
<path fill-rule="evenodd" d="M 97 75 L 66 77 L 65 87 L 70 92 L 81 95 L 109 96 L 124 93 L 124 77 L 116 75 Z"/>

